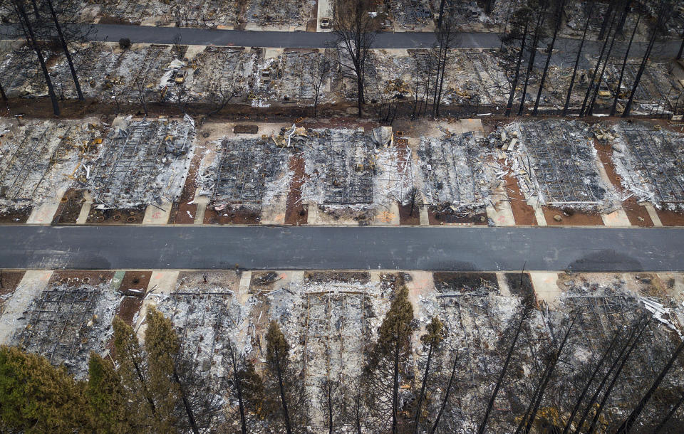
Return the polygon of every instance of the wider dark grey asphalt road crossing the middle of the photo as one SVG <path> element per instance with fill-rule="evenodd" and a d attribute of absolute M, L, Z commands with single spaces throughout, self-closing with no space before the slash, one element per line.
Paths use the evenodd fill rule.
<path fill-rule="evenodd" d="M 684 228 L 0 226 L 0 268 L 684 271 Z"/>

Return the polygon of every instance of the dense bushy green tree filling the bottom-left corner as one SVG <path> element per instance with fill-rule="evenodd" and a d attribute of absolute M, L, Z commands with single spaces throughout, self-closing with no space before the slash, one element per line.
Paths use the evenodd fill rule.
<path fill-rule="evenodd" d="M 86 426 L 84 385 L 63 366 L 0 346 L 0 431 L 66 433 Z"/>

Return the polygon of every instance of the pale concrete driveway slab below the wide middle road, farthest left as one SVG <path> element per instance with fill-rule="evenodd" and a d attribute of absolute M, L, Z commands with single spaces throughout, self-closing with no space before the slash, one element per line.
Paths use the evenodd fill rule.
<path fill-rule="evenodd" d="M 0 313 L 0 344 L 8 345 L 14 331 L 26 325 L 24 312 L 28 309 L 28 304 L 38 295 L 38 292 L 47 287 L 51 276 L 52 270 L 26 271 Z"/>

